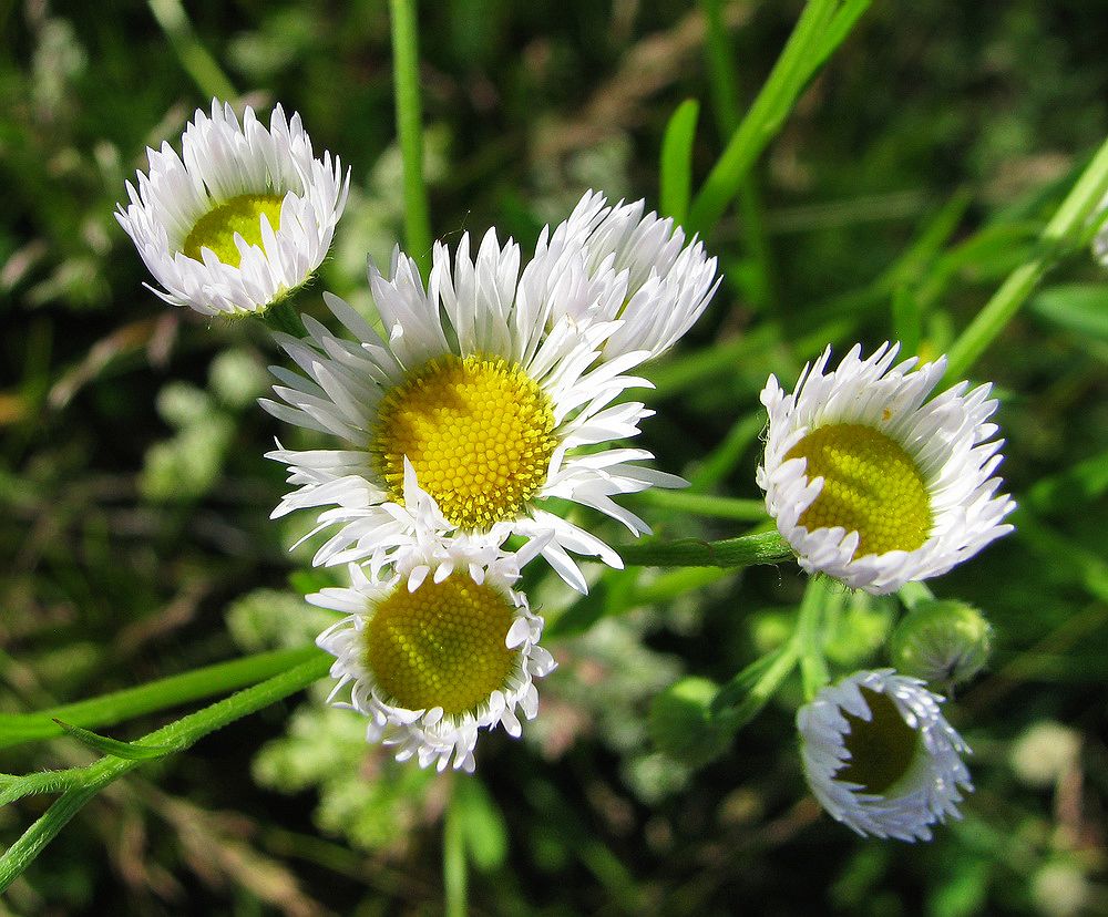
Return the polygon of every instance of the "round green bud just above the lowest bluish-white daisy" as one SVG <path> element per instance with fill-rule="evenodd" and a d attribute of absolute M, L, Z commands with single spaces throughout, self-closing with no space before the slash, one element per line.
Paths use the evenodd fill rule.
<path fill-rule="evenodd" d="M 924 681 L 958 684 L 988 661 L 993 628 L 972 605 L 924 600 L 897 625 L 889 656 L 903 674 Z"/>

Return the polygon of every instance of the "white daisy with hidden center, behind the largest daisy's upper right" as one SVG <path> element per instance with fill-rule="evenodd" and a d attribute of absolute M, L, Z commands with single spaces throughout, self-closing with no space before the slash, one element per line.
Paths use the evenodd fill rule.
<path fill-rule="evenodd" d="M 586 253 L 591 277 L 607 277 L 612 295 L 593 301 L 555 303 L 554 316 L 623 324 L 605 341 L 603 357 L 614 359 L 635 350 L 657 357 L 693 327 L 719 287 L 716 259 L 695 238 L 653 210 L 645 200 L 608 206 L 604 195 L 587 192 L 570 218 L 553 233 L 543 229 L 535 259 L 557 256 L 566 247 Z M 613 272 L 614 269 L 614 272 Z"/>

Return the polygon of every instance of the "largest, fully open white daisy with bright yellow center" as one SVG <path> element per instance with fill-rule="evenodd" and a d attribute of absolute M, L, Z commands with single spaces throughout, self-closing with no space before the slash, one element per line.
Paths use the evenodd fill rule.
<path fill-rule="evenodd" d="M 645 450 L 602 447 L 637 435 L 639 421 L 653 414 L 640 402 L 612 403 L 628 388 L 649 385 L 623 374 L 647 352 L 597 363 L 619 322 L 552 320 L 554 303 L 592 302 L 611 288 L 609 280 L 587 277 L 583 253 L 572 247 L 560 258 L 533 261 L 521 275 L 519 246 L 501 248 L 490 230 L 475 260 L 469 237 L 462 237 L 453 269 L 445 246 L 437 244 L 427 290 L 414 262 L 399 250 L 389 278 L 371 267 L 387 343 L 342 300 L 325 293 L 355 340 L 310 318 L 308 338 L 278 334 L 308 378 L 275 368 L 283 383 L 275 391 L 287 404 L 263 405 L 350 447 L 268 453 L 289 466 L 289 483 L 297 487 L 274 515 L 332 507 L 320 515 L 320 528 L 338 532 L 314 563 L 369 558 L 380 565 L 391 545 L 390 526 L 414 525 L 398 523 L 398 514 L 417 512 L 404 495 L 410 463 L 429 496 L 427 525 L 500 544 L 510 535 L 538 538 L 546 560 L 581 591 L 585 579 L 568 552 L 622 567 L 599 538 L 547 508 L 553 498 L 570 501 L 644 534 L 646 523 L 612 497 L 685 485 L 638 464 L 653 458 Z M 433 523 L 435 514 L 441 523 Z"/>

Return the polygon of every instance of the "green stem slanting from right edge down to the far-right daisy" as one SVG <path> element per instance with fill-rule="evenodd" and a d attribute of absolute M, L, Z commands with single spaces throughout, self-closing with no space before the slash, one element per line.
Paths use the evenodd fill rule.
<path fill-rule="evenodd" d="M 954 342 L 947 354 L 947 383 L 965 379 L 1028 297 L 1064 256 L 1085 241 L 1086 224 L 1108 190 L 1108 141 L 1081 173 L 1039 236 L 1035 256 L 1017 267 Z"/>

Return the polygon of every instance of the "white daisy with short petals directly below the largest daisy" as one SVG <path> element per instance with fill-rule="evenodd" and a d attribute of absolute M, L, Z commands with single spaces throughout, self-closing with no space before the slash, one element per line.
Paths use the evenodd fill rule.
<path fill-rule="evenodd" d="M 439 771 L 453 759 L 472 772 L 481 729 L 519 736 L 519 712 L 538 712 L 534 679 L 555 668 L 538 646 L 543 619 L 512 590 L 519 558 L 490 561 L 469 547 L 454 540 L 432 557 L 407 553 L 386 583 L 351 564 L 349 588 L 308 596 L 347 612 L 316 641 L 335 657 L 328 700 L 348 697 L 337 705 L 369 718 L 369 741 Z"/>

